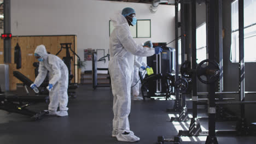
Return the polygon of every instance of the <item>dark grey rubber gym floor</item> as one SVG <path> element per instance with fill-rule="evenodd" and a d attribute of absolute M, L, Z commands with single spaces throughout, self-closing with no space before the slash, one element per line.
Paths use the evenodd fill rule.
<path fill-rule="evenodd" d="M 25 94 L 18 88 L 14 93 Z M 110 88 L 82 85 L 77 89 L 77 98 L 69 99 L 69 116 L 45 116 L 39 121 L 29 117 L 0 110 L 1 143 L 104 143 L 121 144 L 111 137 L 112 133 L 112 92 Z M 32 110 L 45 110 L 48 104 L 30 106 Z M 147 100 L 132 101 L 130 125 L 141 141 L 155 143 L 159 135 L 173 138 L 178 130 L 188 129 L 189 123 L 168 122 L 172 113 L 166 108 L 173 107 L 173 101 Z M 170 115 L 169 115 L 170 114 Z M 200 113 L 200 115 L 205 115 Z M 217 129 L 235 129 L 235 122 L 217 122 Z M 208 122 L 201 122 L 202 130 L 208 129 Z M 219 143 L 255 143 L 256 137 L 217 137 Z M 206 136 L 182 137 L 182 143 L 205 143 Z M 134 143 L 134 142 L 133 142 Z M 168 142 L 166 142 L 168 143 Z"/>

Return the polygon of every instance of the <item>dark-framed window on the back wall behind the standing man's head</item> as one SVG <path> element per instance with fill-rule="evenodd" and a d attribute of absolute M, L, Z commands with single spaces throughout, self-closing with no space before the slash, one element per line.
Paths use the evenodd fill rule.
<path fill-rule="evenodd" d="M 114 29 L 113 23 L 109 21 L 109 36 Z M 151 20 L 137 20 L 136 26 L 130 26 L 133 38 L 151 38 Z"/>

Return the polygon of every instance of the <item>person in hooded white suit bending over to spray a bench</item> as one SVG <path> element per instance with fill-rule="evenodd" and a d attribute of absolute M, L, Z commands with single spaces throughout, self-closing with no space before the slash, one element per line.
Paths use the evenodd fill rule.
<path fill-rule="evenodd" d="M 37 46 L 34 56 L 39 61 L 38 75 L 31 88 L 39 87 L 49 71 L 50 104 L 49 115 L 68 116 L 68 69 L 66 64 L 57 56 L 48 54 L 44 45 Z M 59 106 L 59 110 L 57 108 Z"/>

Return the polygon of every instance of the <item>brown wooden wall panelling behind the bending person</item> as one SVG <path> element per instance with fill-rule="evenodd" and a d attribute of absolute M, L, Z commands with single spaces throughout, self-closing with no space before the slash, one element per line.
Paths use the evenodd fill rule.
<path fill-rule="evenodd" d="M 35 75 L 34 75 L 34 67 L 33 63 L 38 62 L 36 58 L 34 58 L 34 50 L 38 45 L 45 45 L 46 51 L 50 52 L 53 55 L 56 55 L 56 53 L 61 49 L 61 43 L 72 43 L 72 50 L 74 50 L 74 41 L 76 43 L 76 36 L 75 35 L 50 35 L 50 36 L 20 36 L 18 37 L 18 43 L 21 47 L 21 69 L 20 71 L 22 74 L 27 76 L 29 79 L 34 81 Z M 16 64 L 14 64 L 14 48 L 17 44 L 17 37 L 13 37 L 11 39 L 11 64 L 9 64 L 9 71 L 10 71 L 10 77 L 9 77 L 9 83 L 10 83 L 10 89 L 15 90 L 16 89 L 16 83 L 21 83 L 16 77 L 13 76 L 13 71 L 16 69 Z M 75 45 L 76 46 L 76 45 Z M 2 52 L 2 55 L 1 55 Z M 70 51 L 71 52 L 71 51 Z M 75 47 L 75 52 L 77 52 L 77 48 Z M 66 50 L 63 49 L 60 54 L 58 55 L 61 59 L 66 56 Z M 71 53 L 71 56 L 73 54 Z M 3 62 L 3 40 L 0 39 L 0 64 Z M 71 62 L 72 67 L 71 71 L 72 74 L 74 74 L 74 62 Z M 77 70 L 75 70 L 75 77 L 77 77 Z M 75 82 L 76 80 L 72 80 L 72 82 Z"/>

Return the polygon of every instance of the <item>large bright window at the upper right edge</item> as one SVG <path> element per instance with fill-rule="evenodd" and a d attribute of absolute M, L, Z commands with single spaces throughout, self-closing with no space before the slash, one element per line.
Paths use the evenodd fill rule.
<path fill-rule="evenodd" d="M 256 0 L 244 1 L 245 62 L 256 62 Z M 238 0 L 231 3 L 230 61 L 239 62 Z"/>

